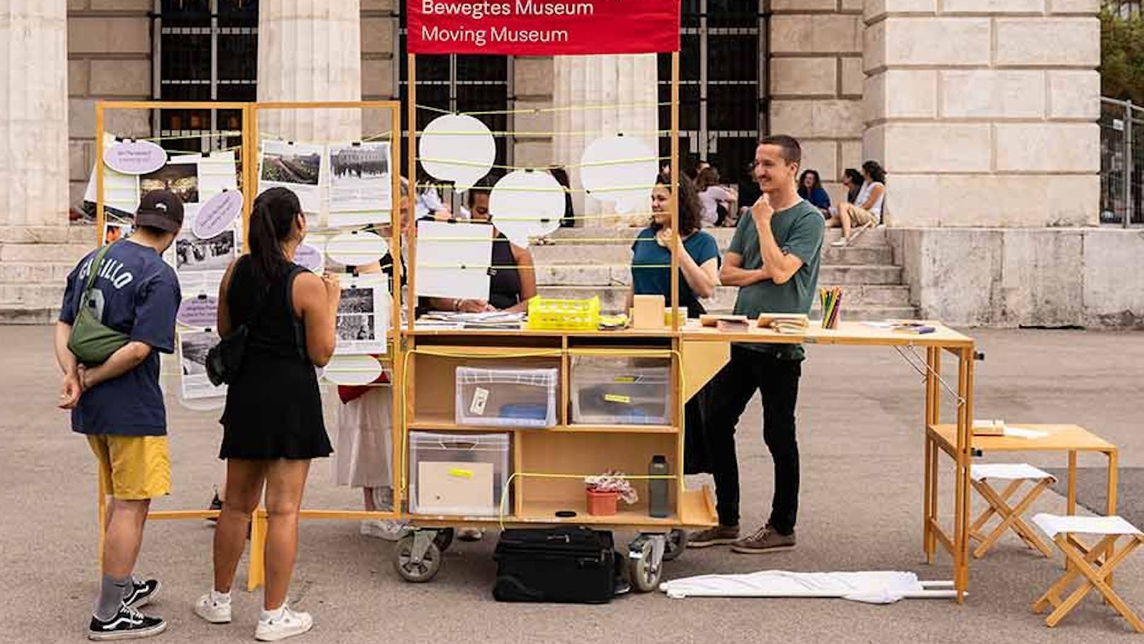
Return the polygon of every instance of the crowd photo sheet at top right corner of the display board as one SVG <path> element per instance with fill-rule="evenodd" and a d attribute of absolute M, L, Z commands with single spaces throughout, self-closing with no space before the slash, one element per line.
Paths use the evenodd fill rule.
<path fill-rule="evenodd" d="M 329 225 L 389 223 L 392 181 L 388 142 L 329 148 Z"/>

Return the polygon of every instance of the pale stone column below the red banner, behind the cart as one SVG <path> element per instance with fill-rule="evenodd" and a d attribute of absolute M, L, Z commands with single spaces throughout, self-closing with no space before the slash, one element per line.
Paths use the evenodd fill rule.
<path fill-rule="evenodd" d="M 558 133 L 575 134 L 556 136 L 553 145 L 554 161 L 570 166 L 572 188 L 582 188 L 580 172 L 575 165 L 580 162 L 583 150 L 598 136 L 635 133 L 658 153 L 659 141 L 651 134 L 659 129 L 659 112 L 654 105 L 659 97 L 657 73 L 656 54 L 555 58 L 553 104 L 561 111 L 556 112 L 553 119 L 554 129 Z M 614 106 L 589 110 L 565 109 L 585 105 Z M 580 215 L 602 214 L 612 209 L 605 208 L 591 197 L 586 197 L 583 192 L 573 193 L 573 199 L 577 213 Z M 633 223 L 639 225 L 648 221 L 646 215 L 636 215 L 631 218 Z M 577 223 L 590 226 L 620 222 L 619 217 L 612 217 L 609 221 L 587 220 Z"/>

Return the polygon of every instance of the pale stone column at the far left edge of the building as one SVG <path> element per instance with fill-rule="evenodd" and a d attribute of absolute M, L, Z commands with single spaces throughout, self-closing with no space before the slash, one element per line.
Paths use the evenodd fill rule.
<path fill-rule="evenodd" d="M 66 2 L 0 0 L 0 320 L 47 321 L 71 259 Z"/>

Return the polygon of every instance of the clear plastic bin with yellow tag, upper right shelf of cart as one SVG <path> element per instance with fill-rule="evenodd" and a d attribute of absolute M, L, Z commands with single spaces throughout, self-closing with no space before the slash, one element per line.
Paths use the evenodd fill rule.
<path fill-rule="evenodd" d="M 572 422 L 667 424 L 670 360 L 573 356 Z"/>

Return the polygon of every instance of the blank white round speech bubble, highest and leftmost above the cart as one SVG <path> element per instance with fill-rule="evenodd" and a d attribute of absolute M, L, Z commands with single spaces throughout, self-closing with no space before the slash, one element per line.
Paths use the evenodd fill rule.
<path fill-rule="evenodd" d="M 480 181 L 496 159 L 496 141 L 485 124 L 464 114 L 437 117 L 418 142 L 421 166 L 438 181 L 466 191 Z"/>

